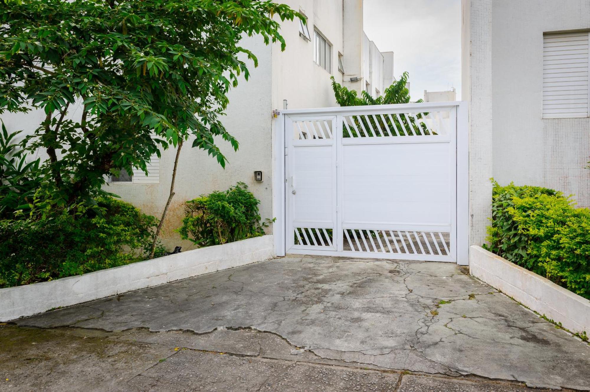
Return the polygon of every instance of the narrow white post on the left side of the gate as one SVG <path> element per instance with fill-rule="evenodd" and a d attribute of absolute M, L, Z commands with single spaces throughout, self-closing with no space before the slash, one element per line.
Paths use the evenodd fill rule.
<path fill-rule="evenodd" d="M 285 255 L 285 121 L 286 116 L 281 112 L 274 122 L 273 143 L 273 241 L 274 253 Z"/>

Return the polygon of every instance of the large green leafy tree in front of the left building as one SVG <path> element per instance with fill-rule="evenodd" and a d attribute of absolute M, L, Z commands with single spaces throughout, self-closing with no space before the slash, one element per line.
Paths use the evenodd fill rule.
<path fill-rule="evenodd" d="M 146 170 L 189 137 L 224 166 L 215 137 L 235 150 L 238 141 L 220 115 L 228 90 L 248 79 L 238 55 L 257 65 L 240 39 L 284 49 L 278 19 L 295 16 L 255 0 L 0 2 L 0 112 L 45 112 L 24 142 L 49 157 L 34 207 L 80 211 L 107 175 Z"/>

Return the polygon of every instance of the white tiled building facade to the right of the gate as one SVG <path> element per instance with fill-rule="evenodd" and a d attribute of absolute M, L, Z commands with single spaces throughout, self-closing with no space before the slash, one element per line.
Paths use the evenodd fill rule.
<path fill-rule="evenodd" d="M 588 0 L 463 0 L 471 243 L 486 237 L 490 177 L 590 207 Z"/>

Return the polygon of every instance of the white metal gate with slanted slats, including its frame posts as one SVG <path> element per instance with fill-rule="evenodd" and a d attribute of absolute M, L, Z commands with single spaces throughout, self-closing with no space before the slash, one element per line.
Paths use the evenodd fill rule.
<path fill-rule="evenodd" d="M 461 102 L 287 110 L 280 121 L 284 252 L 467 264 Z"/>

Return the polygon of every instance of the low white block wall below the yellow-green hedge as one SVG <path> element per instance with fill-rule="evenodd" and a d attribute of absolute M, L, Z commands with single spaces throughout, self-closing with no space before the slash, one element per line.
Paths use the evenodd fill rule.
<path fill-rule="evenodd" d="M 590 333 L 590 301 L 499 255 L 472 245 L 471 275 L 572 332 Z"/>

